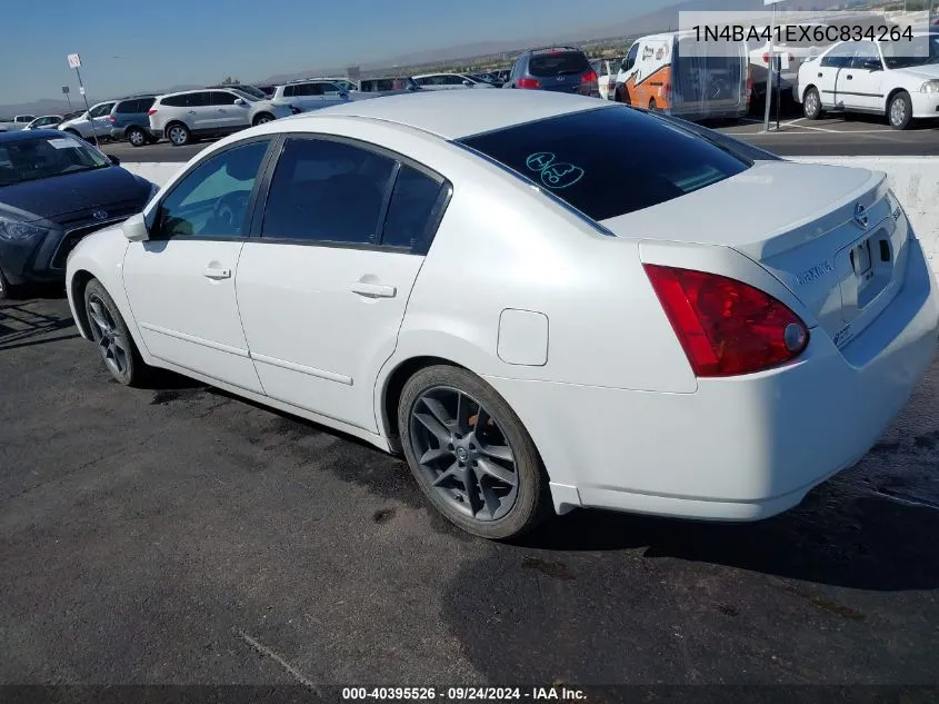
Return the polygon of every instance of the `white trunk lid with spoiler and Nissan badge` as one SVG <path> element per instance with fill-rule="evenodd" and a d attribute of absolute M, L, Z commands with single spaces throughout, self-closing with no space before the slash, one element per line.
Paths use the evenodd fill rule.
<path fill-rule="evenodd" d="M 882 172 L 762 161 L 735 177 L 601 222 L 637 239 L 729 247 L 760 264 L 843 346 L 890 303 L 907 230 Z"/>

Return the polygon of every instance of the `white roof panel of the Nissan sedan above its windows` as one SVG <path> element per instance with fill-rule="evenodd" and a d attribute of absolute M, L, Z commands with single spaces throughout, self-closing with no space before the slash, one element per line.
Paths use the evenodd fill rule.
<path fill-rule="evenodd" d="M 369 118 L 460 139 L 557 115 L 615 107 L 597 98 L 546 90 L 429 90 L 357 100 L 284 119 Z"/>

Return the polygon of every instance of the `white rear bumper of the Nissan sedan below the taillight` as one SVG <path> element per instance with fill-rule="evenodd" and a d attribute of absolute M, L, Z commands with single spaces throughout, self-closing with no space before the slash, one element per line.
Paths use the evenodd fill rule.
<path fill-rule="evenodd" d="M 919 242 L 903 289 L 845 349 L 692 394 L 490 378 L 532 435 L 556 507 L 756 520 L 857 463 L 931 364 L 939 298 Z"/>

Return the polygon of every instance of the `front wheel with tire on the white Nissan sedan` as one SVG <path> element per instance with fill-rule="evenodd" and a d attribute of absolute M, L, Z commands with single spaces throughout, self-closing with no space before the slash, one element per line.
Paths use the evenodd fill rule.
<path fill-rule="evenodd" d="M 83 297 L 86 323 L 104 367 L 118 384 L 141 386 L 149 378 L 152 367 L 140 357 L 114 300 L 98 279 L 88 282 Z"/>

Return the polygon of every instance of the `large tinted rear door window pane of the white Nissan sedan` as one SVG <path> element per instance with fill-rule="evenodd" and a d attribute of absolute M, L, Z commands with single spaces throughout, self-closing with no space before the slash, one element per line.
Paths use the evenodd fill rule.
<path fill-rule="evenodd" d="M 394 161 L 346 142 L 288 139 L 261 236 L 374 244 Z"/>

